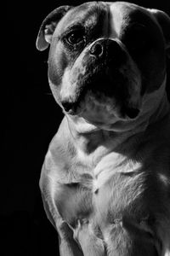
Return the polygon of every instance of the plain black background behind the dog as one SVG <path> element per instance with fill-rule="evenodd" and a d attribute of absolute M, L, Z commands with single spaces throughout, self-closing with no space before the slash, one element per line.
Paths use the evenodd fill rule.
<path fill-rule="evenodd" d="M 48 88 L 48 50 L 37 51 L 35 42 L 39 26 L 51 10 L 79 3 L 82 1 L 8 2 L 2 25 L 7 33 L 3 38 L 7 49 L 2 74 L 5 94 L 1 96 L 5 117 L 1 255 L 59 255 L 57 233 L 43 210 L 38 181 L 48 143 L 63 114 Z M 170 15 L 167 0 L 133 3 Z"/>

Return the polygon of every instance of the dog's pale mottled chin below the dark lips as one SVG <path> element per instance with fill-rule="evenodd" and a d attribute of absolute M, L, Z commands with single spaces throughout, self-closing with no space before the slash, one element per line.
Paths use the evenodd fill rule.
<path fill-rule="evenodd" d="M 102 129 L 108 129 L 117 122 L 129 122 L 137 119 L 139 109 L 124 108 L 114 97 L 103 94 L 93 94 L 91 91 L 83 97 L 82 101 L 66 112 L 71 116 L 85 119 L 88 123 Z"/>

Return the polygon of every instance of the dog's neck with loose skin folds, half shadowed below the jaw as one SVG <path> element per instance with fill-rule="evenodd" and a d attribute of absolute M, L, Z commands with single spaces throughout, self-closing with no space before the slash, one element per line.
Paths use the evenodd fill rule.
<path fill-rule="evenodd" d="M 150 126 L 154 127 L 156 122 L 163 119 L 170 112 L 165 92 L 165 83 L 166 81 L 161 84 L 161 89 L 155 94 L 155 96 L 160 96 L 161 93 L 161 97 L 155 100 L 156 105 L 154 108 L 151 109 L 150 113 L 144 113 L 144 117 L 137 122 L 136 126 L 134 125 L 133 129 L 127 131 L 106 131 L 88 124 L 82 118 L 72 119 L 71 116 L 66 116 L 68 128 L 71 131 L 71 137 L 76 148 L 86 156 L 95 153 L 107 154 L 110 151 L 121 154 L 125 154 L 125 151 L 129 153 L 130 148 L 134 148 L 135 143 L 142 142 L 144 132 L 148 131 Z M 151 96 L 148 101 L 151 98 L 153 99 L 153 97 Z M 99 153 L 100 151 L 103 153 Z"/>

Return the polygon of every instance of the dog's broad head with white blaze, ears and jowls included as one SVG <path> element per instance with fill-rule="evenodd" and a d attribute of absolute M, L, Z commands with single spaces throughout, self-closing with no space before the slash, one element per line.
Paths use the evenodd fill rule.
<path fill-rule="evenodd" d="M 114 129 L 156 108 L 164 94 L 170 18 L 133 3 L 62 6 L 42 22 L 54 98 L 71 117 Z"/>

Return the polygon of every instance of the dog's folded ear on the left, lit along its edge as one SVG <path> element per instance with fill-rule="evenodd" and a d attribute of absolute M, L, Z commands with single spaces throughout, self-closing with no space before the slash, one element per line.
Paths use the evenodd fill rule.
<path fill-rule="evenodd" d="M 46 18 L 42 21 L 40 30 L 37 35 L 36 46 L 39 50 L 48 48 L 48 44 L 51 43 L 55 27 L 59 23 L 59 20 L 70 10 L 72 7 L 69 5 L 60 6 L 54 9 Z"/>

